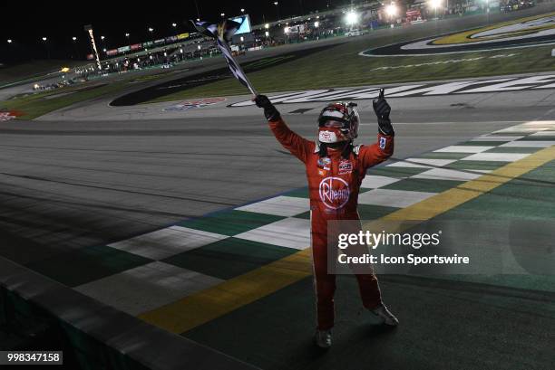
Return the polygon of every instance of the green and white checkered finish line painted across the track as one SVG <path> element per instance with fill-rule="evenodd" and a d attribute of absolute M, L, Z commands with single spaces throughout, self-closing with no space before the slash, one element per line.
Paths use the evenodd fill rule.
<path fill-rule="evenodd" d="M 395 213 L 554 145 L 555 121 L 532 121 L 370 168 L 359 195 L 361 219 Z M 109 244 L 103 248 L 117 253 L 124 267 L 73 288 L 133 316 L 148 316 L 293 258 L 309 245 L 303 188 Z"/>

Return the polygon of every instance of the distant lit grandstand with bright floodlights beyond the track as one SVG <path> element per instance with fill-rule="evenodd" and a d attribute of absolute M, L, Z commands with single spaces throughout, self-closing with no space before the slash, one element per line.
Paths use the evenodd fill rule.
<path fill-rule="evenodd" d="M 434 18 L 506 11 L 507 4 L 507 1 L 499 0 L 446 3 L 437 0 L 415 0 L 388 4 L 370 2 L 323 12 L 316 11 L 253 26 L 249 23 L 248 14 L 243 14 L 231 18 L 242 18 L 248 26 L 242 33 L 233 37 L 230 47 L 232 52 L 244 54 L 286 43 L 317 41 L 341 35 L 361 35 L 378 28 L 407 26 Z M 76 68 L 73 79 L 87 80 L 93 76 L 154 67 L 171 68 L 180 62 L 199 60 L 218 53 L 219 50 L 212 39 L 194 32 L 179 33 L 110 50 L 104 48 L 100 52 L 102 71 L 97 70 L 93 63 L 93 54 L 89 54 L 87 59 L 91 62 Z"/>

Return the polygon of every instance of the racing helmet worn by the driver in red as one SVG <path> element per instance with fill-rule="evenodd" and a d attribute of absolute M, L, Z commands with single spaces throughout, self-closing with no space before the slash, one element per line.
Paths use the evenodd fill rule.
<path fill-rule="evenodd" d="M 360 117 L 355 107 L 356 103 L 350 101 L 326 105 L 318 117 L 318 140 L 333 144 L 358 137 Z"/>

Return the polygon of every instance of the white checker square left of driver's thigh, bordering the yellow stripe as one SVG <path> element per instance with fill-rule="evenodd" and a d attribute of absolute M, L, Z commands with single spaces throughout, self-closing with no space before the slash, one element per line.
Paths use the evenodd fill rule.
<path fill-rule="evenodd" d="M 258 229 L 239 233 L 235 238 L 253 242 L 265 242 L 297 250 L 310 246 L 310 221 L 299 218 L 286 218 Z"/>

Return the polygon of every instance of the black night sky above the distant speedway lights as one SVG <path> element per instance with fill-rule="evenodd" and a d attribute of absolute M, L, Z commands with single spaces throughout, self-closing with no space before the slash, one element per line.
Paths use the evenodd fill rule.
<path fill-rule="evenodd" d="M 195 5 L 198 5 L 198 7 Z M 350 4 L 350 0 L 184 0 L 170 3 L 162 1 L 139 2 L 40 2 L 3 1 L 0 4 L 0 62 L 21 62 L 26 59 L 44 59 L 47 56 L 43 37 L 49 43 L 52 58 L 83 59 L 88 51 L 84 24 L 93 24 L 99 48 L 116 48 L 129 43 L 161 38 L 190 31 L 187 21 L 217 20 L 221 13 L 239 15 L 245 8 L 251 24 L 275 21 L 277 10 L 281 18 L 308 14 L 316 10 Z M 198 8 L 198 11 L 197 11 Z M 278 9 L 277 9 L 278 8 Z M 178 24 L 172 27 L 172 23 Z M 154 28 L 149 35 L 148 28 Z M 102 45 L 100 36 L 105 36 Z M 72 37 L 77 37 L 73 44 Z M 13 40 L 8 44 L 7 40 Z M 73 55 L 72 55 L 73 54 Z"/>

